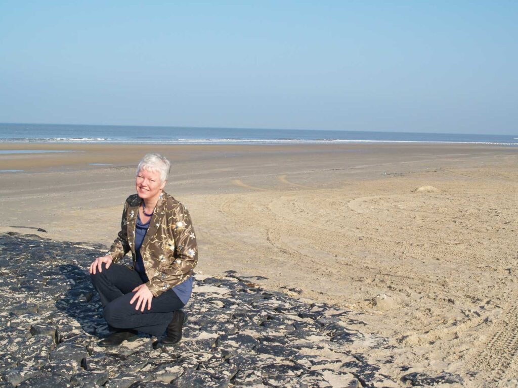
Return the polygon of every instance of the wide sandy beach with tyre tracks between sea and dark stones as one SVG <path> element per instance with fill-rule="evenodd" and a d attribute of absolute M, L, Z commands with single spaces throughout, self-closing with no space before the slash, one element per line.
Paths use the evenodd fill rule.
<path fill-rule="evenodd" d="M 351 310 L 354 329 L 389 338 L 369 360 L 387 375 L 513 386 L 515 148 L 0 145 L 8 150 L 70 152 L 0 153 L 0 170 L 23 170 L 0 172 L 0 232 L 109 246 L 138 160 L 160 152 L 173 165 L 166 191 L 194 222 L 199 273 L 260 275 L 266 289 Z"/>

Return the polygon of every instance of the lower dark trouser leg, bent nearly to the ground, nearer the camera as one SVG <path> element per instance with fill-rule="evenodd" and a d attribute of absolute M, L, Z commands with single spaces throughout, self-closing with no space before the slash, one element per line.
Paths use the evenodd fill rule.
<path fill-rule="evenodd" d="M 158 297 L 153 297 L 151 309 L 141 312 L 135 310 L 137 302 L 130 304 L 135 292 L 130 292 L 111 301 L 104 309 L 106 321 L 119 329 L 135 329 L 142 333 L 148 333 L 155 337 L 164 334 L 167 325 L 176 310 L 184 304 L 175 291 L 167 290 Z"/>

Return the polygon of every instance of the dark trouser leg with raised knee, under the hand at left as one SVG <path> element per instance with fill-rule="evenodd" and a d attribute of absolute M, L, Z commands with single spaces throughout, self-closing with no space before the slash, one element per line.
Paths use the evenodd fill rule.
<path fill-rule="evenodd" d="M 103 271 L 96 270 L 95 275 L 90 274 L 90 278 L 103 307 L 142 284 L 138 273 L 124 265 L 111 264 L 106 269 L 106 264 L 103 263 L 102 268 Z"/>

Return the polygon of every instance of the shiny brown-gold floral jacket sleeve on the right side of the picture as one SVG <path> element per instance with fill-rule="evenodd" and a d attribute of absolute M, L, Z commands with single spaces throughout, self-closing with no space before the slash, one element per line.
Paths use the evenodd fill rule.
<path fill-rule="evenodd" d="M 198 247 L 187 209 L 179 204 L 169 220 L 175 243 L 174 261 L 146 284 L 154 296 L 160 296 L 192 275 L 198 263 Z"/>

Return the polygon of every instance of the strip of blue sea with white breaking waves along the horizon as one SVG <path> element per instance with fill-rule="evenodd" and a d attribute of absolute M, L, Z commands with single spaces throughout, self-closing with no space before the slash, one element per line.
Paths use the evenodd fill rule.
<path fill-rule="evenodd" d="M 247 128 L 0 123 L 0 143 L 474 143 L 518 146 L 518 136 Z"/>

